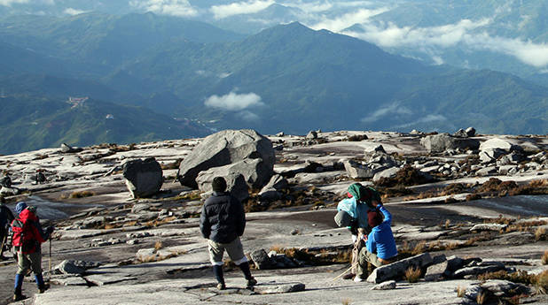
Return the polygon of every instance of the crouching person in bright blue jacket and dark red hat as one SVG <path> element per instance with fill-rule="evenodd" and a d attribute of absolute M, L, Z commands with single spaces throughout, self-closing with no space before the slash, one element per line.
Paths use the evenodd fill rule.
<path fill-rule="evenodd" d="M 368 213 L 368 222 L 372 226 L 372 232 L 364 236 L 365 248 L 360 250 L 358 257 L 357 274 L 354 278 L 356 282 L 364 280 L 364 270 L 367 268 L 368 262 L 375 267 L 380 267 L 394 263 L 397 259 L 394 234 L 390 228 L 392 214 L 380 202 L 373 201 L 372 205 L 382 213 L 384 220 L 379 213 Z"/>

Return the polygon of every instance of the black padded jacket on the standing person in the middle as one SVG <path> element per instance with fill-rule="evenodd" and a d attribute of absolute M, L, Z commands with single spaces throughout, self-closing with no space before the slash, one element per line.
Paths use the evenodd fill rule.
<path fill-rule="evenodd" d="M 244 233 L 246 213 L 241 202 L 228 193 L 213 192 L 201 209 L 200 231 L 203 237 L 229 243 Z"/>

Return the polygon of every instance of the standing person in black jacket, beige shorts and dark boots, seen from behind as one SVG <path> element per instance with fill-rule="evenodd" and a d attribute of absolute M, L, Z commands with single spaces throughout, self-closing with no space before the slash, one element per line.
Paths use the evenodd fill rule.
<path fill-rule="evenodd" d="M 223 278 L 224 250 L 244 272 L 247 288 L 257 281 L 251 276 L 249 263 L 244 255 L 244 248 L 239 237 L 246 228 L 246 213 L 241 202 L 231 194 L 226 193 L 226 181 L 223 177 L 215 177 L 212 183 L 213 195 L 207 198 L 201 210 L 200 231 L 207 238 L 209 260 L 213 265 L 213 273 L 217 279 L 217 288 L 226 288 Z"/>

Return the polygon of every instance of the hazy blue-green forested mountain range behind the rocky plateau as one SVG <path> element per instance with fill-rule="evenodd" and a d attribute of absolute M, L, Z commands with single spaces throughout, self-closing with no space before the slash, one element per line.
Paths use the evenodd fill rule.
<path fill-rule="evenodd" d="M 211 132 L 198 123 L 181 126 L 183 118 L 262 133 L 548 130 L 548 88 L 503 72 L 425 65 L 298 22 L 244 36 L 153 13 L 10 16 L 0 19 L 0 42 L 0 56 L 9 58 L 0 63 L 0 93 L 8 96 L 2 103 L 25 105 L 48 119 L 37 122 L 26 117 L 30 112 L 3 107 L 6 118 L 21 120 L 3 121 L 4 138 L 14 135 L 2 153 L 59 141 L 88 145 Z M 90 96 L 90 103 L 74 109 L 68 96 Z M 73 119 L 77 112 L 95 124 Z M 106 114 L 126 123 L 112 125 Z M 51 121 L 63 127 L 48 134 L 21 127 Z M 121 128 L 138 121 L 150 124 Z M 20 130 L 27 131 L 16 136 Z"/>

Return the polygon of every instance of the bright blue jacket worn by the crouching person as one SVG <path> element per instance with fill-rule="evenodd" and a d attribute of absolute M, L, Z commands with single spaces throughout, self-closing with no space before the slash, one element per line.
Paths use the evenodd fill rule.
<path fill-rule="evenodd" d="M 392 214 L 383 206 L 380 205 L 380 212 L 384 215 L 384 221 L 375 226 L 372 232 L 367 236 L 367 251 L 376 253 L 377 257 L 388 260 L 397 255 L 395 248 L 394 234 L 392 233 Z"/>

